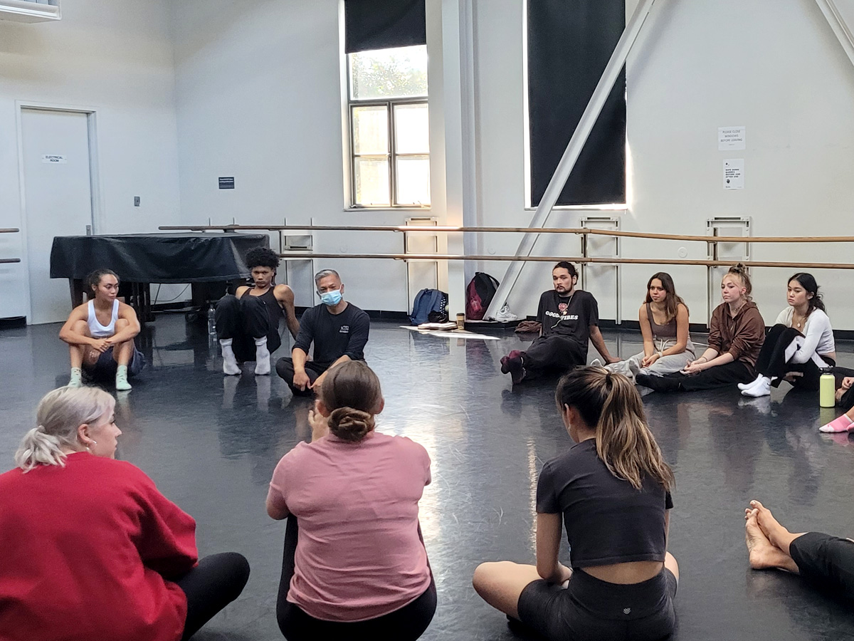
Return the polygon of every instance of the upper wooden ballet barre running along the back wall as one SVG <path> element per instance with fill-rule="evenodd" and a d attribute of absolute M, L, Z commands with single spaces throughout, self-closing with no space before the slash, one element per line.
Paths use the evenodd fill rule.
<path fill-rule="evenodd" d="M 620 232 L 589 227 L 465 227 L 420 225 L 161 225 L 162 232 L 511 232 L 511 233 L 576 233 L 592 236 L 621 238 L 650 238 L 654 240 L 680 240 L 696 243 L 854 243 L 854 236 L 690 236 L 673 233 Z"/>

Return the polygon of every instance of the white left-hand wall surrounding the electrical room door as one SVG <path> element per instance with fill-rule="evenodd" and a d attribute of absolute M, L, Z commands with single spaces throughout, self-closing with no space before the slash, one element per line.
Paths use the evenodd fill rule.
<path fill-rule="evenodd" d="M 22 227 L 15 101 L 97 109 L 99 233 L 149 232 L 178 213 L 168 0 L 77 0 L 56 23 L 0 21 L 0 227 Z M 133 197 L 142 207 L 133 207 Z M 56 212 L 61 216 L 61 212 Z M 0 256 L 26 258 L 23 234 Z M 26 262 L 0 266 L 0 318 L 26 309 Z"/>

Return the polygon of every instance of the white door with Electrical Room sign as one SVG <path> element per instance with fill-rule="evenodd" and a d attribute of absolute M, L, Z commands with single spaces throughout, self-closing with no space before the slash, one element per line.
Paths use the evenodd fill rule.
<path fill-rule="evenodd" d="M 71 310 L 66 279 L 50 279 L 55 236 L 84 236 L 92 224 L 88 116 L 22 109 L 26 268 L 30 324 L 65 321 Z"/>

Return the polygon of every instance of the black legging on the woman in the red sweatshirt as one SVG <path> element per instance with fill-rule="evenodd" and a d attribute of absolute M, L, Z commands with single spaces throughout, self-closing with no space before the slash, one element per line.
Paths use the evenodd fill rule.
<path fill-rule="evenodd" d="M 176 580 L 187 596 L 187 620 L 182 641 L 213 619 L 219 610 L 240 596 L 249 580 L 249 562 L 237 552 L 205 556 Z"/>

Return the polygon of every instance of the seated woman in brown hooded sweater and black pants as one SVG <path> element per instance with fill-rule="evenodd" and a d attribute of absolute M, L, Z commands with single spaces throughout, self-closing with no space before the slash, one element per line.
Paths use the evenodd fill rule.
<path fill-rule="evenodd" d="M 746 268 L 729 268 L 721 281 L 723 303 L 711 313 L 709 347 L 681 372 L 667 376 L 638 374 L 635 382 L 654 391 L 697 391 L 749 383 L 765 340 L 765 321 L 756 303 Z"/>

